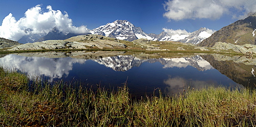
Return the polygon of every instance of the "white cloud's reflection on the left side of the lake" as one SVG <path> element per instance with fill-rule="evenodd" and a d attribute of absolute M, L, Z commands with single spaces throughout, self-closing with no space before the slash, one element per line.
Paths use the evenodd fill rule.
<path fill-rule="evenodd" d="M 86 60 L 72 58 L 45 58 L 45 57 L 23 57 L 17 55 L 7 55 L 0 58 L 0 65 L 5 68 L 17 68 L 30 76 L 45 75 L 50 79 L 61 78 L 62 75 L 69 74 L 74 63 L 84 63 Z"/>

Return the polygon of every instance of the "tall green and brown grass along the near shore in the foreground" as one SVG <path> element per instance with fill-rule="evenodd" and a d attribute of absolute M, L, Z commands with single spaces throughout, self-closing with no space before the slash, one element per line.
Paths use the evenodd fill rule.
<path fill-rule="evenodd" d="M 61 82 L 34 81 L 0 67 L 3 126 L 253 126 L 256 91 L 188 88 L 176 97 L 133 100 L 124 85 L 96 92 Z M 160 91 L 159 91 L 160 92 Z M 161 92 L 160 92 L 161 93 Z"/>

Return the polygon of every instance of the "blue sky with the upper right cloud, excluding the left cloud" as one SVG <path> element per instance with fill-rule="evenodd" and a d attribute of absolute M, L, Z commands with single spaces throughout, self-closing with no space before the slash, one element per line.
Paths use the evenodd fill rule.
<path fill-rule="evenodd" d="M 201 27 L 219 30 L 244 18 L 249 12 L 256 12 L 255 0 L 9 0 L 0 1 L 0 24 L 9 13 L 19 20 L 25 16 L 28 9 L 37 5 L 40 5 L 41 13 L 47 12 L 49 5 L 52 10 L 60 10 L 63 14 L 67 12 L 76 27 L 84 25 L 92 30 L 122 19 L 141 27 L 145 33 L 155 34 L 160 34 L 163 28 L 187 32 L 196 31 Z"/>

